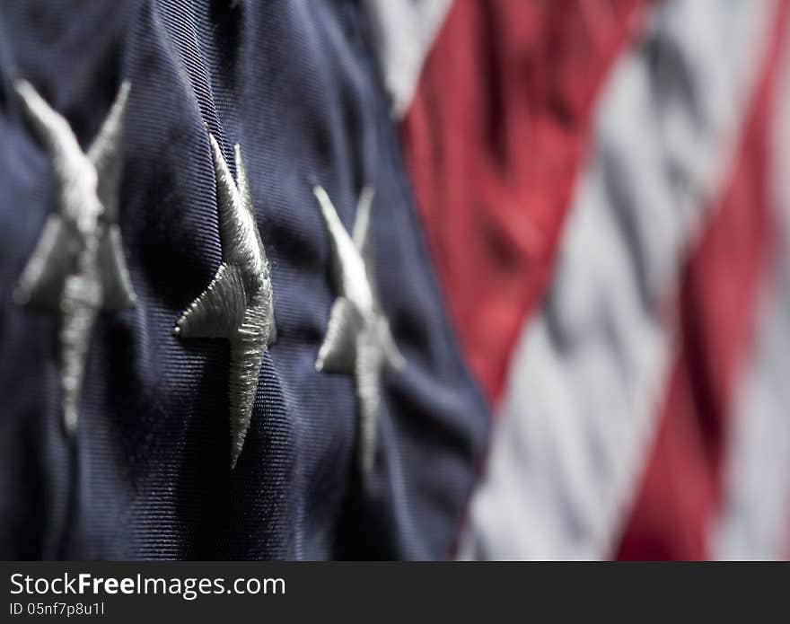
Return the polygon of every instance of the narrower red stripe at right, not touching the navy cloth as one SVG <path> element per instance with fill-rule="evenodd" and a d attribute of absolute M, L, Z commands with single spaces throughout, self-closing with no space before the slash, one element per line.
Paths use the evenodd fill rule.
<path fill-rule="evenodd" d="M 709 557 L 733 391 L 754 338 L 759 285 L 774 243 L 769 147 L 787 11 L 782 2 L 771 22 L 731 178 L 683 272 L 680 350 L 619 558 Z"/>

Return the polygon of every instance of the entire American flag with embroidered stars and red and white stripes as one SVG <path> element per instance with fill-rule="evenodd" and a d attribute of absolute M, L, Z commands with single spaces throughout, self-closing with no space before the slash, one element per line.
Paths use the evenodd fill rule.
<path fill-rule="evenodd" d="M 788 28 L 0 5 L 0 554 L 786 558 Z"/>

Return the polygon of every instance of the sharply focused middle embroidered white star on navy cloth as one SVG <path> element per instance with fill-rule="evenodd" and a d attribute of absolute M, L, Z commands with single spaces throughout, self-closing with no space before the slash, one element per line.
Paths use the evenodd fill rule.
<path fill-rule="evenodd" d="M 236 181 L 214 136 L 208 134 L 216 178 L 223 261 L 173 330 L 180 338 L 226 338 L 231 344 L 228 394 L 231 469 L 241 454 L 258 391 L 263 353 L 276 338 L 268 259 L 252 207 L 250 184 L 235 146 Z"/>

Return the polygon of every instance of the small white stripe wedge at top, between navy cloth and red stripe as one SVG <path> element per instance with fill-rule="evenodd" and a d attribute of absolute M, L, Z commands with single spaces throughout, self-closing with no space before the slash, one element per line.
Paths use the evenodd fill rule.
<path fill-rule="evenodd" d="M 406 114 L 423 64 L 452 0 L 364 0 L 392 98 L 392 114 Z"/>

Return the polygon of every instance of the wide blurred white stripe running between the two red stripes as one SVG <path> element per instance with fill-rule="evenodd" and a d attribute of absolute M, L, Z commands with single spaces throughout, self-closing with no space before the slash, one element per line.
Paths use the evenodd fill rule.
<path fill-rule="evenodd" d="M 654 438 L 680 259 L 723 180 L 773 2 L 653 9 L 600 101 L 554 282 L 513 357 L 464 558 L 606 558 Z"/>

